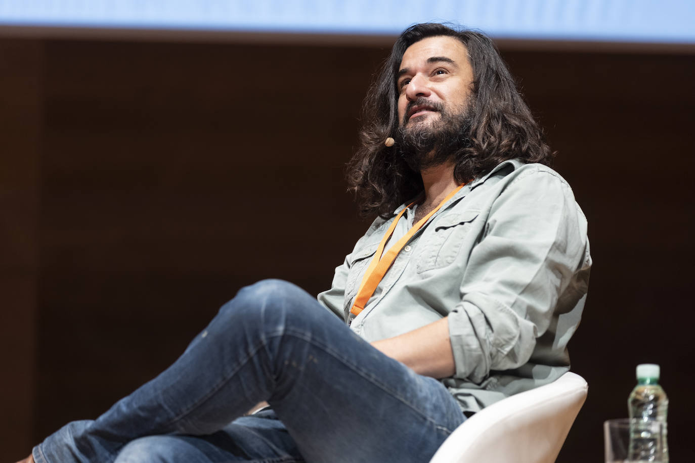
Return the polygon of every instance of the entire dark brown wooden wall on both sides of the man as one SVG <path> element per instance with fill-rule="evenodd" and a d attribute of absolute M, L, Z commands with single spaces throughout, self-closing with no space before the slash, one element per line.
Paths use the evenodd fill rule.
<path fill-rule="evenodd" d="M 311 293 L 366 228 L 345 193 L 379 47 L 0 40 L 0 460 L 152 378 L 261 278 Z M 638 362 L 695 456 L 691 55 L 502 50 L 589 219 L 559 461 L 600 461 Z"/>

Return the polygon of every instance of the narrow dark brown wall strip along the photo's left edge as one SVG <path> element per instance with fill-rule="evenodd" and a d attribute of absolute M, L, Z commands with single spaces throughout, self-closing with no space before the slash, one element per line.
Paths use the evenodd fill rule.
<path fill-rule="evenodd" d="M 31 446 L 42 43 L 0 40 L 0 460 Z M 14 460 L 13 460 L 14 459 Z"/>

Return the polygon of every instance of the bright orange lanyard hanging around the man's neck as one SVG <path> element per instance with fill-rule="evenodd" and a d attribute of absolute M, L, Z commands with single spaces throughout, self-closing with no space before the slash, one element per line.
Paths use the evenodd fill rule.
<path fill-rule="evenodd" d="M 389 241 L 391 238 L 391 235 L 393 235 L 393 230 L 395 230 L 396 224 L 398 224 L 398 221 L 402 217 L 403 213 L 405 212 L 406 209 L 410 208 L 411 205 L 414 203 L 411 203 L 408 205 L 407 208 L 403 208 L 402 211 L 398 213 L 398 215 L 393 219 L 393 222 L 391 223 L 391 226 L 389 227 L 389 230 L 386 230 L 386 234 L 382 238 L 382 242 L 379 243 L 379 247 L 377 248 L 377 251 L 374 253 L 374 257 L 372 258 L 372 262 L 369 263 L 369 267 L 367 268 L 366 273 L 364 273 L 364 277 L 362 278 L 362 283 L 359 286 L 359 291 L 357 292 L 357 296 L 354 298 L 354 303 L 352 304 L 352 308 L 350 309 L 350 313 L 353 315 L 359 314 L 359 312 L 362 312 L 364 310 L 364 306 L 366 305 L 367 301 L 369 301 L 369 298 L 372 297 L 372 294 L 374 294 L 375 290 L 377 289 L 377 286 L 379 286 L 379 283 L 381 283 L 382 278 L 384 278 L 384 275 L 386 275 L 386 271 L 389 271 L 391 268 L 391 264 L 393 264 L 393 261 L 395 260 L 396 256 L 398 256 L 398 253 L 400 253 L 400 250 L 403 249 L 403 246 L 417 233 L 420 228 L 425 225 L 425 222 L 432 217 L 432 214 L 434 212 L 438 211 L 441 206 L 443 206 L 447 201 L 452 199 L 452 197 L 457 194 L 461 188 L 466 185 L 465 183 L 459 185 L 455 190 L 450 192 L 442 201 L 439 203 L 439 205 L 434 208 L 429 214 L 425 215 L 420 221 L 418 221 L 417 224 L 415 224 L 410 230 L 408 230 L 408 233 L 406 233 L 401 239 L 396 242 L 393 246 L 391 246 L 391 249 L 386 252 L 386 255 L 382 257 L 382 254 L 384 253 L 384 247 L 386 247 L 386 242 Z"/>

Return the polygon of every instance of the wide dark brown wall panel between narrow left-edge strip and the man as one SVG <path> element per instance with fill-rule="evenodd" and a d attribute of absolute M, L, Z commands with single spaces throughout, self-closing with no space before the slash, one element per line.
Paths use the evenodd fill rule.
<path fill-rule="evenodd" d="M 47 44 L 38 436 L 154 376 L 243 285 L 329 287 L 366 229 L 343 165 L 382 54 Z"/>

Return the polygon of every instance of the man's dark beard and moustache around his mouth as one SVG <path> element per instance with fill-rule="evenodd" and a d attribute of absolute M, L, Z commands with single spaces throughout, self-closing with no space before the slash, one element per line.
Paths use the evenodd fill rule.
<path fill-rule="evenodd" d="M 467 99 L 464 105 L 452 108 L 452 111 L 443 104 L 432 103 L 424 97 L 409 103 L 404 120 L 395 134 L 395 142 L 400 155 L 411 169 L 422 171 L 442 165 L 457 151 L 471 146 L 473 115 L 470 101 L 470 98 Z M 439 113 L 439 118 L 434 121 L 411 121 L 408 125 L 407 114 L 416 105 L 431 106 Z"/>

